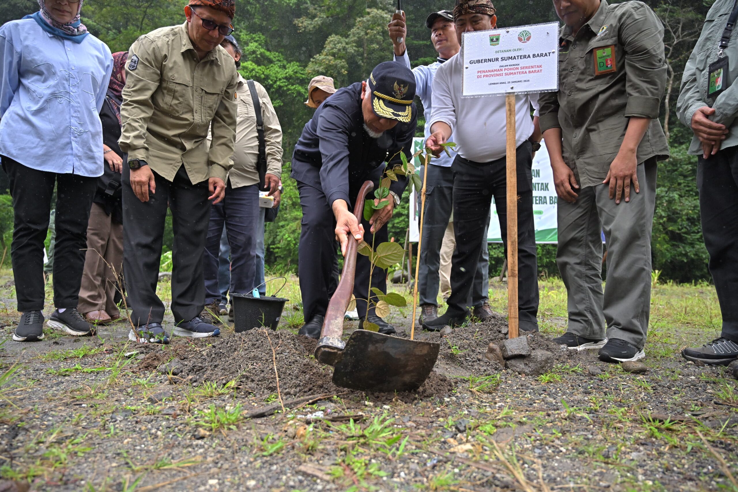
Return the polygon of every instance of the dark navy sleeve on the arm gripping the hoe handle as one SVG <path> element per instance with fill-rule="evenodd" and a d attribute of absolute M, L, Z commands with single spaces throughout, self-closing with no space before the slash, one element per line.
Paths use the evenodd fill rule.
<path fill-rule="evenodd" d="M 323 108 L 315 133 L 323 157 L 320 184 L 331 208 L 336 200 L 351 204 L 348 198 L 348 128 L 351 128 L 351 119 L 347 114 L 331 106 Z"/>

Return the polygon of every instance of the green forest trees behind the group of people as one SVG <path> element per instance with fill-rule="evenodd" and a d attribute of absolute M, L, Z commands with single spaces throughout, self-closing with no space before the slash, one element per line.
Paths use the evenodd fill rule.
<path fill-rule="evenodd" d="M 425 18 L 431 12 L 452 9 L 453 0 L 405 0 L 408 54 L 413 66 L 432 63 L 435 51 Z M 618 3 L 618 2 L 610 2 Z M 657 204 L 653 227 L 653 268 L 662 280 L 693 282 L 709 279 L 708 256 L 700 231 L 697 198 L 697 158 L 686 148 L 691 132 L 677 121 L 675 105 L 683 67 L 714 0 L 646 0 L 665 27 L 668 80 L 661 121 L 672 158 L 659 164 Z M 85 0 L 82 18 L 90 32 L 112 52 L 125 51 L 157 27 L 184 21 L 187 0 Z M 551 0 L 496 1 L 498 27 L 557 21 Z M 0 24 L 38 10 L 36 0 L 2 0 Z M 311 77 L 334 77 L 337 87 L 368 77 L 393 49 L 387 22 L 396 10 L 390 0 L 239 0 L 234 35 L 244 50 L 241 74 L 258 80 L 272 98 L 284 132 L 282 205 L 277 221 L 266 227 L 266 265 L 270 271 L 296 271 L 300 236 L 297 187 L 289 178 L 294 143 L 312 110 L 303 105 Z M 417 101 L 417 100 L 416 100 Z M 424 116 L 418 103 L 418 136 Z M 3 197 L 7 204 L 9 197 Z M 408 223 L 407 193 L 389 224 L 390 237 L 402 242 Z M 12 213 L 0 209 L 0 239 L 12 235 Z M 7 243 L 10 246 L 9 243 Z M 169 223 L 165 248 L 171 245 Z M 503 263 L 499 244 L 490 244 L 490 275 Z M 558 276 L 556 246 L 539 245 L 539 271 Z"/>

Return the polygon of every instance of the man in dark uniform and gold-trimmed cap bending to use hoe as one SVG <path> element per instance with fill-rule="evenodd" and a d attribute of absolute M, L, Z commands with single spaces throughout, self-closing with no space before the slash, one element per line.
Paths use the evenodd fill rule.
<path fill-rule="evenodd" d="M 379 181 L 385 162 L 393 166 L 401 162 L 400 152 L 410 160 L 415 135 L 415 77 L 400 63 L 379 63 L 368 80 L 336 91 L 305 125 L 294 147 L 292 178 L 297 180 L 300 205 L 303 207 L 300 233 L 300 291 L 306 324 L 300 333 L 314 339 L 320 337 L 331 263 L 334 260 L 334 237 L 341 242 L 345 254 L 348 235 L 369 244 L 387 241 L 387 221 L 407 186 L 407 178 L 398 176 L 390 186 L 390 203 L 377 210 L 370 221 L 359 221 L 351 212 L 356 195 L 364 181 Z M 380 333 L 395 333 L 395 328 L 367 309 L 365 299 L 369 287 L 370 261 L 356 260 L 356 308 L 359 328 L 365 322 L 379 325 Z M 387 289 L 384 274 L 372 277 L 372 287 Z"/>

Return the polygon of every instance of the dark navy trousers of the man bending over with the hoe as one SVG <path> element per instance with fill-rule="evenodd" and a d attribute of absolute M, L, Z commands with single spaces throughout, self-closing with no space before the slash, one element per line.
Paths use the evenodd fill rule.
<path fill-rule="evenodd" d="M 379 173 L 382 169 L 379 170 Z M 376 176 L 368 179 L 379 178 Z M 363 184 L 363 181 L 362 183 Z M 303 316 L 308 322 L 316 314 L 325 316 L 328 310 L 328 301 L 331 300 L 336 289 L 334 264 L 337 265 L 335 246 L 336 219 L 333 210 L 328 206 L 323 190 L 309 184 L 297 181 L 297 190 L 300 193 L 300 206 L 303 207 L 302 230 L 300 231 L 300 250 L 297 274 L 300 277 L 300 291 L 303 295 Z M 351 202 L 353 209 L 359 186 L 351 187 Z M 372 233 L 368 221 L 362 219 L 364 225 L 364 240 L 371 244 Z M 387 242 L 387 225 L 385 224 L 376 233 L 375 249 L 380 243 Z M 356 297 L 356 311 L 359 317 L 366 316 L 369 294 L 369 272 L 371 263 L 368 257 L 359 254 L 356 257 L 356 277 L 354 279 L 354 296 Z M 382 268 L 374 268 L 371 286 L 387 291 L 387 272 Z M 376 302 L 376 295 L 370 297 Z M 373 314 L 373 308 L 369 310 Z"/>

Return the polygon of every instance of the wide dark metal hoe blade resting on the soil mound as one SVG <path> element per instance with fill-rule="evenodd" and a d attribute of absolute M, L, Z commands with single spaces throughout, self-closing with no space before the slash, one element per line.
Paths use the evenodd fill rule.
<path fill-rule="evenodd" d="M 336 386 L 365 391 L 413 391 L 426 380 L 440 344 L 356 330 L 336 363 Z"/>

